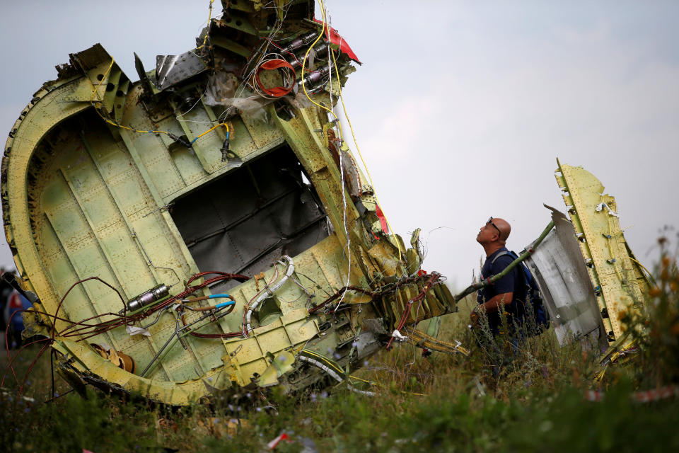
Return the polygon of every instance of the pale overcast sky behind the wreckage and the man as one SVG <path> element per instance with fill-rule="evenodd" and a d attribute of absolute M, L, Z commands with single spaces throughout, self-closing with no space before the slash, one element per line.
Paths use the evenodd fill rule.
<path fill-rule="evenodd" d="M 132 52 L 151 69 L 194 47 L 208 4 L 3 2 L 0 132 L 69 53 L 100 42 L 136 80 Z M 557 157 L 601 180 L 632 250 L 654 262 L 658 231 L 679 225 L 679 2 L 327 8 L 364 63 L 344 91 L 359 147 L 394 229 L 407 241 L 422 227 L 426 270 L 468 284 L 489 216 L 512 224 L 513 250 L 535 239 L 550 221 L 542 203 L 564 210 Z M 0 247 L 13 267 L 4 235 Z"/>

